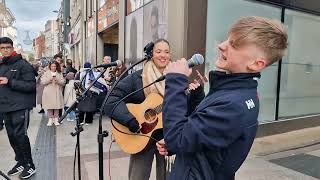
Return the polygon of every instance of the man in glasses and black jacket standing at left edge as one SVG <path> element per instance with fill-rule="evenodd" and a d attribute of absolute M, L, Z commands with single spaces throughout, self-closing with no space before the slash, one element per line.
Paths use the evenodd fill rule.
<path fill-rule="evenodd" d="M 27 135 L 30 109 L 36 104 L 36 78 L 34 68 L 13 49 L 8 37 L 0 38 L 0 113 L 4 114 L 5 127 L 17 164 L 8 175 L 31 177 L 35 172 L 31 147 Z"/>

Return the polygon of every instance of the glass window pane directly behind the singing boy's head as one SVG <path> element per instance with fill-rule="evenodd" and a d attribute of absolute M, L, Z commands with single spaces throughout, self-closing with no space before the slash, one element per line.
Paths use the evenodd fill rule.
<path fill-rule="evenodd" d="M 208 1 L 206 74 L 214 69 L 217 45 L 224 41 L 227 32 L 237 19 L 242 16 L 262 16 L 281 19 L 281 9 L 270 5 L 243 0 Z M 277 64 L 268 67 L 259 80 L 260 113 L 259 121 L 274 120 L 277 86 Z M 206 87 L 206 91 L 208 87 Z"/>

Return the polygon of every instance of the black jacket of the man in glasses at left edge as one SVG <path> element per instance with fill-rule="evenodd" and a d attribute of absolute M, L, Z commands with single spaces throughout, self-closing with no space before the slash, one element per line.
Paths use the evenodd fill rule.
<path fill-rule="evenodd" d="M 32 109 L 36 105 L 34 68 L 20 54 L 0 61 L 0 77 L 8 84 L 0 85 L 0 112 Z"/>

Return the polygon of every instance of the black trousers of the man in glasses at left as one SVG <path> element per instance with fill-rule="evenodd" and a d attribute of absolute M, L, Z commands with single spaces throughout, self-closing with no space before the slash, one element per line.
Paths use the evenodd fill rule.
<path fill-rule="evenodd" d="M 4 121 L 15 160 L 22 165 L 33 164 L 27 129 L 30 112 L 27 109 L 4 113 Z"/>

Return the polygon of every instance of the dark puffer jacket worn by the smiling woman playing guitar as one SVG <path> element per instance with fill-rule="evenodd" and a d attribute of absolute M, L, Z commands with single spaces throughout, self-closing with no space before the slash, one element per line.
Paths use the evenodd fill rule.
<path fill-rule="evenodd" d="M 145 100 L 145 95 L 143 90 L 137 92 L 136 94 L 128 97 L 122 101 L 111 114 L 111 111 L 114 105 L 127 94 L 142 88 L 142 70 L 136 71 L 132 74 L 129 74 L 124 79 L 121 79 L 118 85 L 114 88 L 113 92 L 110 94 L 110 97 L 106 103 L 104 111 L 107 116 L 117 120 L 120 124 L 128 126 L 128 123 L 133 119 L 133 115 L 128 111 L 126 106 L 127 103 L 140 104 Z M 198 88 L 195 91 L 191 91 L 189 95 L 189 106 L 188 110 L 191 112 L 193 109 L 201 102 L 204 98 L 203 87 Z M 165 112 L 163 112 L 165 113 Z"/>

